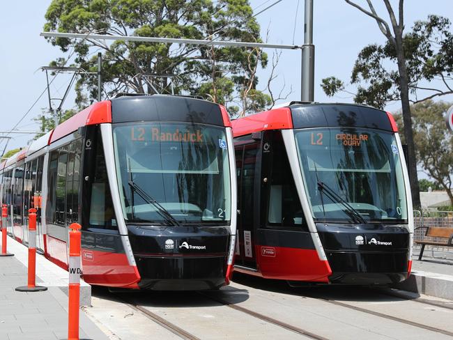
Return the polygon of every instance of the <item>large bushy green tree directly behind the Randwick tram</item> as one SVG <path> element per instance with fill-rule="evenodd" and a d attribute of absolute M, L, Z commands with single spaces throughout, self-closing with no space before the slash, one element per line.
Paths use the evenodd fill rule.
<path fill-rule="evenodd" d="M 248 0 L 53 0 L 45 18 L 45 31 L 261 42 Z M 63 52 L 72 51 L 74 66 L 90 72 L 97 70 L 94 49 L 102 51 L 103 97 L 154 93 L 154 88 L 171 93 L 172 85 L 176 94 L 206 95 L 227 106 L 245 94 L 255 106 L 263 106 L 251 95 L 258 79 L 252 82 L 254 91 L 245 91 L 244 82 L 252 77 L 249 65 L 252 70 L 256 65 L 266 67 L 267 55 L 261 50 L 123 40 L 107 44 L 89 37 L 48 40 Z M 67 59 L 53 64 L 65 65 Z M 77 104 L 93 102 L 97 91 L 96 75 L 82 73 L 76 85 Z"/>

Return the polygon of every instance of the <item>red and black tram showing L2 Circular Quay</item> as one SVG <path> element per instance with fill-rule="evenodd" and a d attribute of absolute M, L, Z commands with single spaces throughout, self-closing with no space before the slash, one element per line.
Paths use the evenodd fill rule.
<path fill-rule="evenodd" d="M 390 113 L 291 102 L 232 125 L 235 271 L 292 286 L 391 284 L 408 277 L 413 210 Z"/>

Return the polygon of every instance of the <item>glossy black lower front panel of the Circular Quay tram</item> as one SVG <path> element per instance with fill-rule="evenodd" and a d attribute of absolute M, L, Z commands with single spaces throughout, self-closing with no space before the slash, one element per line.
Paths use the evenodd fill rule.
<path fill-rule="evenodd" d="M 410 234 L 404 225 L 317 224 L 337 284 L 394 284 L 408 275 Z"/>

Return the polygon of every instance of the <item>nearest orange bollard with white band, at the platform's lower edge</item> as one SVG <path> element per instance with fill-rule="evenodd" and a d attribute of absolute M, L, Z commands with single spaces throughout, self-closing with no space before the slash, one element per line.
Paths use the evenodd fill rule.
<path fill-rule="evenodd" d="M 69 226 L 69 307 L 68 307 L 68 340 L 79 340 L 80 313 L 80 248 L 82 226 L 72 223 Z"/>

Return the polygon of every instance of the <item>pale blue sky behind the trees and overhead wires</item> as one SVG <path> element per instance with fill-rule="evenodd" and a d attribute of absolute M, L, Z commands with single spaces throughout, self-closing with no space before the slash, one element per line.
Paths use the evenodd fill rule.
<path fill-rule="evenodd" d="M 254 13 L 259 13 L 276 0 L 250 0 Z M 362 6 L 364 0 L 356 0 Z M 397 1 L 391 1 L 393 4 Z M 45 72 L 41 66 L 63 56 L 57 47 L 40 37 L 45 23 L 45 11 L 50 0 L 40 1 L 6 1 L 2 4 L 0 30 L 3 41 L 0 45 L 0 131 L 9 131 L 26 114 L 18 125 L 19 129 L 38 129 L 33 121 L 41 114 L 42 109 L 49 107 L 46 89 Z M 374 0 L 376 10 L 387 20 L 385 8 L 381 0 Z M 429 3 L 429 6 L 427 6 Z M 395 6 L 396 7 L 396 6 Z M 406 30 L 413 26 L 415 20 L 424 20 L 429 14 L 453 17 L 453 6 L 450 0 L 405 1 Z M 261 36 L 269 31 L 268 42 L 285 45 L 303 44 L 304 1 L 282 0 L 272 8 L 256 16 L 261 25 Z M 294 34 L 295 30 L 295 34 Z M 294 39 L 294 40 L 293 40 Z M 315 95 L 318 102 L 353 102 L 351 95 L 340 93 L 328 98 L 319 84 L 321 79 L 335 75 L 348 81 L 351 77 L 353 63 L 362 47 L 371 43 L 383 43 L 385 37 L 379 31 L 376 22 L 359 10 L 341 0 L 314 0 L 314 45 L 315 45 Z M 271 59 L 273 50 L 266 52 Z M 292 93 L 284 101 L 300 100 L 300 50 L 283 50 L 277 65 L 278 77 L 272 88 L 279 92 L 284 86 Z M 259 70 L 261 84 L 268 79 L 267 70 Z M 59 75 L 51 85 L 52 98 L 61 98 L 70 75 Z M 259 89 L 263 89 L 264 85 Z M 73 89 L 72 89 L 73 90 Z M 43 95 L 40 97 L 40 95 Z M 40 97 L 40 98 L 39 98 Z M 74 105 L 73 91 L 69 95 L 63 109 Z M 39 99 L 38 99 L 39 98 Z M 444 100 L 453 102 L 453 96 Z M 36 102 L 36 104 L 34 104 Z M 34 104 L 34 105 L 33 105 Z M 57 101 L 54 101 L 54 105 Z M 386 107 L 389 111 L 398 111 L 399 102 Z M 0 135 L 2 135 L 0 132 Z M 26 146 L 33 138 L 31 134 L 13 134 L 6 150 Z M 0 154 L 6 140 L 0 139 Z"/>

